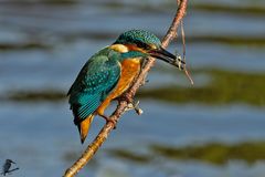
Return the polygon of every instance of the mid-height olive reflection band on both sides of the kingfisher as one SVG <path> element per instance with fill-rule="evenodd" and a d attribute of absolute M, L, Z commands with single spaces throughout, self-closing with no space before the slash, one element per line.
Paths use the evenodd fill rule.
<path fill-rule="evenodd" d="M 265 73 L 241 73 L 222 70 L 206 70 L 193 73 L 204 73 L 209 75 L 211 77 L 210 83 L 200 87 L 183 87 L 178 85 L 151 87 L 140 90 L 137 96 L 141 100 L 153 98 L 177 104 L 202 103 L 219 105 L 244 103 L 254 106 L 265 105 Z M 65 100 L 66 91 L 49 88 L 42 88 L 42 91 L 9 91 L 8 94 L 3 95 L 0 96 L 0 98 L 6 101 L 55 102 Z"/>

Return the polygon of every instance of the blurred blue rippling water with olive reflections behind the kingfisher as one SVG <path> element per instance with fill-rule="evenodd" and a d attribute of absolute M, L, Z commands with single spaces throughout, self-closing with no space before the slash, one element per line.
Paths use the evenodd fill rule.
<path fill-rule="evenodd" d="M 82 65 L 126 30 L 162 38 L 174 11 L 173 0 L 0 0 L 0 163 L 17 162 L 13 177 L 62 176 L 104 125 L 81 145 L 65 94 Z M 126 113 L 78 176 L 264 177 L 264 19 L 263 0 L 190 1 L 195 85 L 157 62 L 144 114 Z"/>

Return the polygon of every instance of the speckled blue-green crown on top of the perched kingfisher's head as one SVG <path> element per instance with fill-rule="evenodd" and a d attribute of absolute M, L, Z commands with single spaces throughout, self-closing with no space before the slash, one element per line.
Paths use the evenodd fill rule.
<path fill-rule="evenodd" d="M 138 45 L 155 44 L 156 46 L 161 45 L 161 41 L 155 34 L 146 30 L 126 31 L 118 37 L 115 43 Z"/>

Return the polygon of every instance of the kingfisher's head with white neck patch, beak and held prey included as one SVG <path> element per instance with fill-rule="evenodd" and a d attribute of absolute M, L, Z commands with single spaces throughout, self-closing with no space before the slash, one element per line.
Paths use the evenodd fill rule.
<path fill-rule="evenodd" d="M 112 49 L 121 53 L 124 59 L 153 56 L 179 69 L 183 62 L 180 55 L 173 55 L 161 46 L 161 41 L 152 33 L 145 30 L 126 31 L 118 37 Z"/>

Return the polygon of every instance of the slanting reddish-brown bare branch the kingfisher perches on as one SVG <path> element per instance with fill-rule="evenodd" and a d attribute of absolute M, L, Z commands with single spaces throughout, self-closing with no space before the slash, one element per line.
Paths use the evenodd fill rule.
<path fill-rule="evenodd" d="M 178 7 L 174 19 L 173 19 L 166 37 L 162 40 L 163 48 L 167 48 L 169 42 L 172 41 L 177 37 L 177 28 L 179 27 L 181 19 L 186 14 L 187 3 L 188 3 L 188 0 L 180 1 L 180 3 L 179 3 L 180 6 Z M 148 58 L 148 61 L 142 66 L 140 74 L 134 81 L 134 83 L 131 84 L 131 87 L 125 93 L 126 101 L 123 100 L 123 101 L 118 102 L 117 108 L 110 116 L 112 119 L 118 122 L 120 116 L 126 112 L 126 108 L 128 107 L 128 104 L 129 104 L 129 102 L 127 102 L 127 101 L 130 101 L 134 98 L 137 90 L 144 83 L 149 70 L 153 66 L 155 61 L 156 60 L 153 58 Z M 72 167 L 70 167 L 65 171 L 64 177 L 75 176 L 80 171 L 80 169 L 83 168 L 86 165 L 86 163 L 94 156 L 94 154 L 97 152 L 97 149 L 106 140 L 106 138 L 108 137 L 108 135 L 113 128 L 114 128 L 114 124 L 112 122 L 108 122 L 107 124 L 105 124 L 105 126 L 98 133 L 96 138 L 87 146 L 86 150 L 82 154 L 82 156 L 74 163 L 74 165 Z"/>

